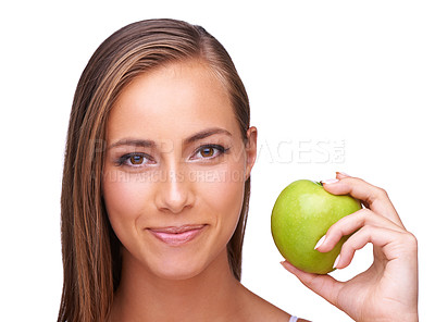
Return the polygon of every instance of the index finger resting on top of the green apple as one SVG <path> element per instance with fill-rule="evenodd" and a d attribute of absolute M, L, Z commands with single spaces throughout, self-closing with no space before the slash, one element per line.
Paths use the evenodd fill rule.
<path fill-rule="evenodd" d="M 363 201 L 372 211 L 405 228 L 388 194 L 368 182 L 351 176 L 337 175 L 337 182 L 322 182 L 326 191 L 333 195 L 350 195 Z"/>

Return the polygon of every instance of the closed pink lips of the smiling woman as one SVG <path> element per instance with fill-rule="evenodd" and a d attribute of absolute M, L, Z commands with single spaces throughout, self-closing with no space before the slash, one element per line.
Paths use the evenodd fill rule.
<path fill-rule="evenodd" d="M 148 231 L 161 242 L 179 246 L 197 237 L 206 225 L 183 225 L 159 228 L 148 228 Z"/>

